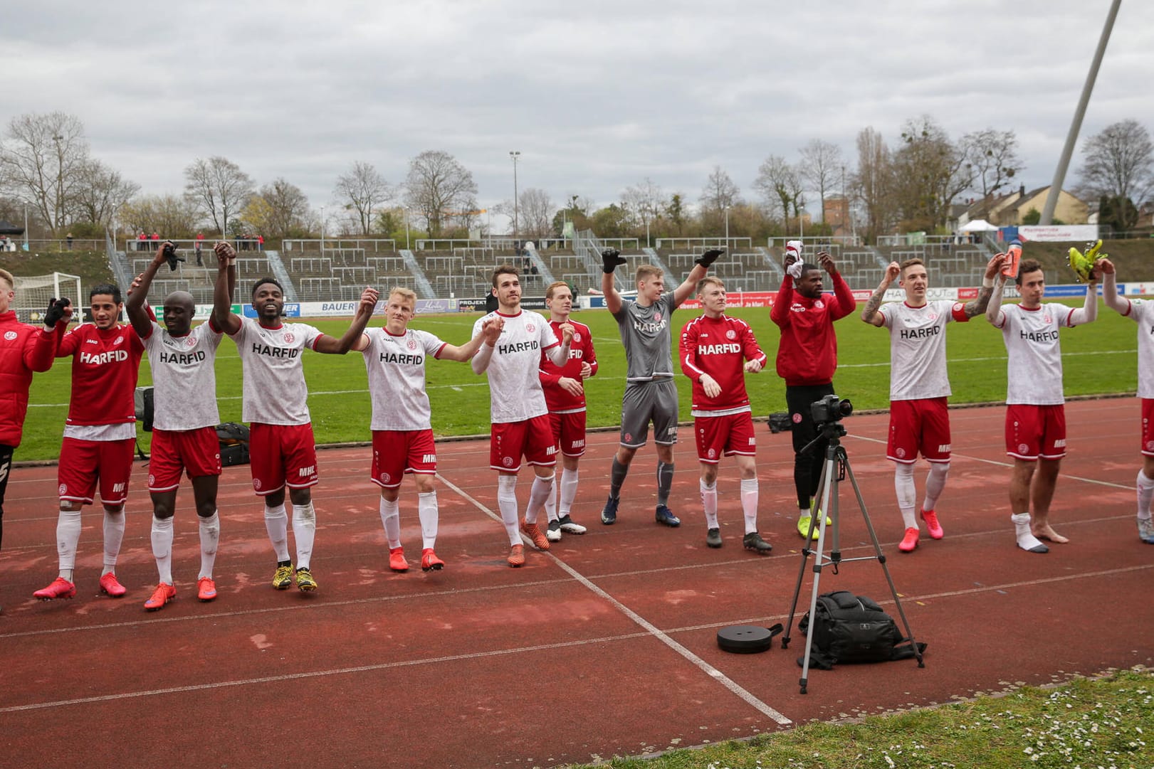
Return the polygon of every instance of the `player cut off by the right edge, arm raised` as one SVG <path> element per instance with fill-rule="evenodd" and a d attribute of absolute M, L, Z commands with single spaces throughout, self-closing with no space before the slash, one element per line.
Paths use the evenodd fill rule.
<path fill-rule="evenodd" d="M 1142 467 L 1138 470 L 1138 537 L 1154 544 L 1154 301 L 1118 296 L 1114 263 L 1107 258 L 1096 265 L 1103 273 L 1102 300 L 1124 318 L 1138 323 L 1138 398 L 1141 399 Z"/>

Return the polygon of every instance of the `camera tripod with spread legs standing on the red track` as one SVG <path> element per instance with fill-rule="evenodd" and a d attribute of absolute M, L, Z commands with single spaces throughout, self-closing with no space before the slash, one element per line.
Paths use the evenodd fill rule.
<path fill-rule="evenodd" d="M 835 398 L 835 397 L 831 397 Z M 848 401 L 845 401 L 848 404 Z M 801 594 L 801 582 L 805 575 L 805 561 L 809 559 L 810 553 L 814 555 L 814 593 L 809 600 L 809 617 L 810 617 L 810 628 L 812 628 L 812 619 L 817 611 L 817 596 L 820 593 L 818 585 L 822 580 L 822 570 L 832 566 L 833 573 L 838 573 L 838 567 L 841 564 L 848 564 L 855 560 L 874 560 L 882 564 L 882 571 L 885 573 L 885 581 L 890 585 L 890 595 L 893 596 L 893 605 L 898 608 L 898 616 L 901 618 L 901 625 L 906 631 L 906 639 L 908 639 L 909 644 L 914 649 L 914 656 L 917 658 L 917 666 L 924 668 L 926 663 L 922 659 L 922 651 L 917 643 L 914 641 L 914 633 L 909 629 L 909 621 L 906 619 L 906 612 L 901 608 L 901 602 L 898 600 L 898 590 L 893 587 L 893 580 L 890 578 L 890 570 L 885 566 L 885 553 L 882 552 L 882 545 L 878 544 L 877 534 L 874 533 L 874 525 L 869 520 L 869 513 L 865 511 L 865 502 L 862 499 L 861 489 L 857 487 L 857 480 L 854 477 L 854 470 L 849 467 L 849 458 L 846 457 L 846 450 L 841 446 L 841 437 L 846 435 L 846 429 L 841 425 L 841 417 L 833 417 L 829 421 L 819 423 L 818 437 L 802 448 L 801 453 L 808 451 L 814 451 L 820 440 L 827 440 L 829 444 L 825 448 L 825 463 L 822 466 L 822 476 L 818 481 L 818 507 L 814 511 L 810 517 L 809 533 L 805 535 L 807 546 L 801 550 L 801 566 L 797 570 L 797 585 L 794 587 L 793 603 L 789 605 L 789 621 L 786 624 L 786 634 L 781 638 L 781 648 L 786 649 L 789 647 L 789 634 L 793 632 L 793 620 L 794 615 L 797 610 L 797 596 Z M 874 542 L 874 555 L 872 556 L 861 556 L 857 558 L 842 558 L 841 557 L 841 538 L 840 538 L 840 526 L 839 526 L 839 510 L 838 510 L 838 483 L 844 481 L 846 476 L 849 477 L 849 483 L 854 488 L 854 495 L 857 497 L 857 506 L 862 511 L 862 519 L 865 521 L 865 530 L 869 531 L 870 541 Z M 833 542 L 830 548 L 830 555 L 825 556 L 825 517 L 829 515 L 832 521 L 833 529 Z M 818 527 L 817 531 L 817 549 L 812 550 L 808 546 L 809 542 L 814 538 L 814 527 Z M 809 680 L 809 653 L 814 646 L 814 633 L 810 631 L 805 635 L 805 655 L 804 662 L 802 663 L 801 670 L 801 693 L 805 694 L 805 686 Z"/>

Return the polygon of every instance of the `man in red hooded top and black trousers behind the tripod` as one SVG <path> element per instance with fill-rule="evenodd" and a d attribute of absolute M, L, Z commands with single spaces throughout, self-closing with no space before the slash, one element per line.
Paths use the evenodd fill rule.
<path fill-rule="evenodd" d="M 794 485 L 797 489 L 797 531 L 809 534 L 810 508 L 825 460 L 825 442 L 818 442 L 817 425 L 810 412 L 814 401 L 833 394 L 833 371 L 838 368 L 838 338 L 833 322 L 854 311 L 854 295 L 825 251 L 820 266 L 801 261 L 801 242 L 786 247 L 786 276 L 770 310 L 770 318 L 781 329 L 778 344 L 778 376 L 786 380 L 786 407 L 793 422 Z M 822 270 L 833 282 L 833 296 L 822 294 Z M 817 527 L 814 528 L 817 538 Z"/>

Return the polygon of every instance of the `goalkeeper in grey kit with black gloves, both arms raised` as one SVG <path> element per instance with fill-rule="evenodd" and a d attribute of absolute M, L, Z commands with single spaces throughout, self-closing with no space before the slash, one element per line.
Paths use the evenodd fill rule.
<path fill-rule="evenodd" d="M 697 281 L 705 277 L 709 266 L 724 252 L 724 249 L 712 249 L 697 257 L 684 282 L 672 294 L 665 293 L 665 276 L 660 267 L 640 265 L 636 276 L 637 299 L 630 301 L 622 299 L 614 285 L 614 271 L 625 263 L 624 257 L 613 248 L 601 251 L 605 306 L 617 322 L 628 364 L 621 404 L 621 444 L 613 458 L 609 498 L 601 510 L 601 522 L 606 526 L 617 520 L 621 487 L 634 454 L 649 440 L 650 422 L 653 423 L 658 459 L 655 519 L 665 526 L 681 526 L 681 520 L 668 506 L 673 485 L 673 444 L 677 442 L 677 387 L 673 382 L 669 317 L 692 295 Z"/>

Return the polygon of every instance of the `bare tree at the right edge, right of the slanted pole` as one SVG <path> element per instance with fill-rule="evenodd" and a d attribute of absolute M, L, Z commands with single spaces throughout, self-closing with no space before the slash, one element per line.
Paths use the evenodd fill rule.
<path fill-rule="evenodd" d="M 1154 188 L 1154 143 L 1137 120 L 1107 126 L 1082 145 L 1079 190 L 1089 198 L 1119 198 L 1137 206 Z"/>

